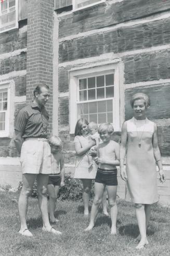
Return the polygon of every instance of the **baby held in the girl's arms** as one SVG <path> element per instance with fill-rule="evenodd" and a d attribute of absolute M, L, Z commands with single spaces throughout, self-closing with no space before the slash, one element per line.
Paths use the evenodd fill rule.
<path fill-rule="evenodd" d="M 99 133 L 98 133 L 98 126 L 95 122 L 90 122 L 88 124 L 88 130 L 89 130 L 89 133 L 90 133 L 90 138 L 95 140 L 96 142 L 96 150 L 97 150 L 97 156 L 98 156 L 98 147 L 99 147 L 99 140 L 100 140 L 100 136 L 99 136 Z M 93 165 L 93 157 L 89 154 L 87 154 L 87 157 L 88 157 L 88 162 L 89 162 L 89 166 L 88 168 L 90 168 L 92 165 Z"/>

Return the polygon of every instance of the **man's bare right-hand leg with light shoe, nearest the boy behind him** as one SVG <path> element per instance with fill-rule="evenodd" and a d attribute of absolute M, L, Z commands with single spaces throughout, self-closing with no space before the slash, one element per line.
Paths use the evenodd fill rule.
<path fill-rule="evenodd" d="M 47 184 L 48 174 L 37 175 L 37 192 L 38 192 L 38 205 L 43 219 L 43 230 L 49 231 L 54 234 L 60 235 L 61 232 L 51 227 L 48 217 L 48 203 L 47 203 Z"/>

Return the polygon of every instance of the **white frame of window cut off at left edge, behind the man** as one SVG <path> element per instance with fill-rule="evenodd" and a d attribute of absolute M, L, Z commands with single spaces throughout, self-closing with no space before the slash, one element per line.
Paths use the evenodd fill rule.
<path fill-rule="evenodd" d="M 14 81 L 0 83 L 0 92 L 7 89 L 7 112 L 5 116 L 5 130 L 0 130 L 0 138 L 12 137 L 14 135 Z"/>

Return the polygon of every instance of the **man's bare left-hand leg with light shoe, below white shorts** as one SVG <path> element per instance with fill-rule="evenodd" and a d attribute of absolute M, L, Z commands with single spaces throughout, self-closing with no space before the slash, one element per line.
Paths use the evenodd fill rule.
<path fill-rule="evenodd" d="M 31 236 L 31 232 L 28 230 L 26 217 L 28 209 L 28 197 L 33 188 L 36 174 L 23 174 L 22 175 L 22 189 L 18 200 L 18 211 L 20 217 L 20 231 L 19 233 L 25 236 Z"/>

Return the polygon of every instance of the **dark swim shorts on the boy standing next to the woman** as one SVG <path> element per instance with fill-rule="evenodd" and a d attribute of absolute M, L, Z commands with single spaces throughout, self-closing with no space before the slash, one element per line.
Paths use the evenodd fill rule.
<path fill-rule="evenodd" d="M 117 186 L 117 169 L 97 169 L 95 182 L 107 186 Z"/>

